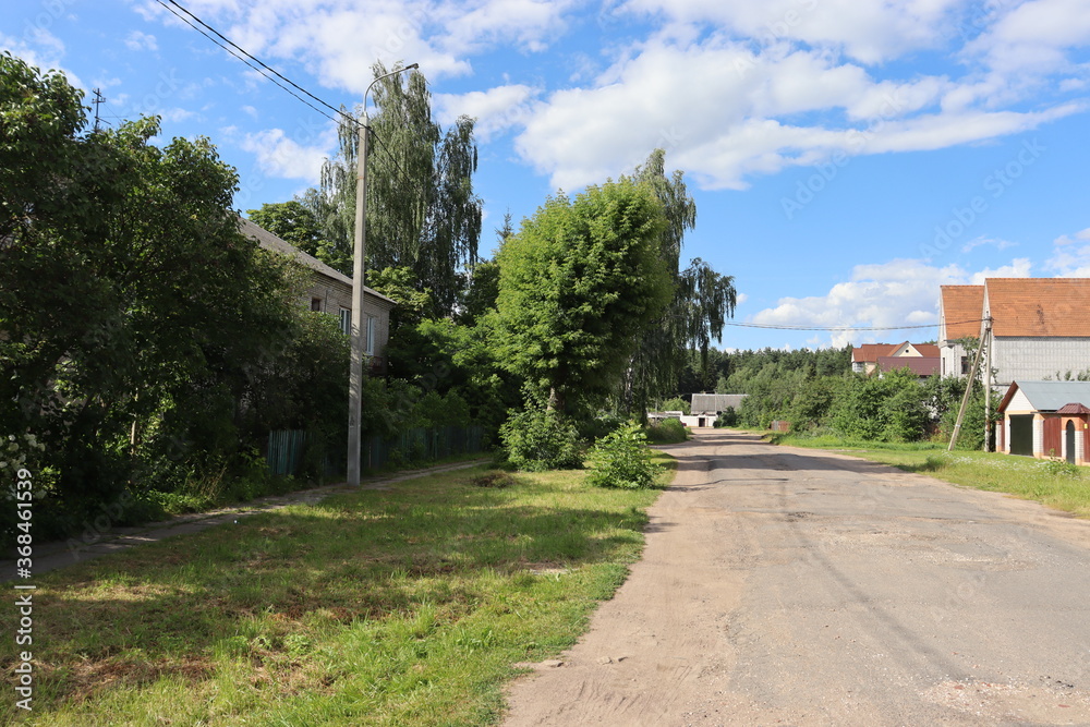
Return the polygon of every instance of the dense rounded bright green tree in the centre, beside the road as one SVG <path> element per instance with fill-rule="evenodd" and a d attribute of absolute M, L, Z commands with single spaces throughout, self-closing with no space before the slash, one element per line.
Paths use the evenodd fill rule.
<path fill-rule="evenodd" d="M 664 223 L 650 186 L 622 179 L 549 198 L 499 251 L 504 356 L 548 409 L 619 383 L 669 301 Z"/>

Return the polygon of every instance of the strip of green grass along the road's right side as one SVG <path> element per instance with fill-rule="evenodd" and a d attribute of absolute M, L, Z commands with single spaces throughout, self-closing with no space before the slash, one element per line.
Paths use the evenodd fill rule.
<path fill-rule="evenodd" d="M 859 443 L 782 435 L 771 439 L 795 447 L 836 449 L 907 472 L 920 472 L 964 487 L 1007 493 L 1090 518 L 1090 468 L 995 452 L 947 452 L 945 446 L 934 443 Z"/>

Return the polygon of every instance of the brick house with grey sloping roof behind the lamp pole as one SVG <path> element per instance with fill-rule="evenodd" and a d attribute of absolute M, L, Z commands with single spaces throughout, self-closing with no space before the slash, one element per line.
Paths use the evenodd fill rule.
<path fill-rule="evenodd" d="M 307 255 L 291 243 L 268 230 L 240 217 L 243 234 L 253 238 L 265 250 L 293 257 L 312 270 L 311 286 L 300 301 L 316 313 L 337 316 L 341 331 L 352 332 L 352 278 L 335 270 L 313 255 Z M 364 353 L 371 360 L 372 374 L 386 371 L 386 343 L 390 336 L 390 311 L 397 305 L 392 300 L 371 288 L 363 289 Z"/>

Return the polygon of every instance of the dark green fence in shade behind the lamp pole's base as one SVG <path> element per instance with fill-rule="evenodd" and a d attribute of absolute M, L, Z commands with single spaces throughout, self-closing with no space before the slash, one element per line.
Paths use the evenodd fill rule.
<path fill-rule="evenodd" d="M 303 461 L 306 433 L 269 432 L 266 455 L 272 474 L 295 474 Z M 390 462 L 428 462 L 453 455 L 484 450 L 484 429 L 480 426 L 440 426 L 434 429 L 409 429 L 393 437 L 364 437 L 360 443 L 360 464 L 376 470 Z M 343 461 L 327 462 L 329 472 L 343 471 Z"/>

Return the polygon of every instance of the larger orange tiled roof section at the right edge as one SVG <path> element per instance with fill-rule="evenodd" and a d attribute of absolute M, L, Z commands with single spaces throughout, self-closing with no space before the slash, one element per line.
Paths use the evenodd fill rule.
<path fill-rule="evenodd" d="M 1090 337 L 1090 278 L 989 278 L 992 335 Z"/>

